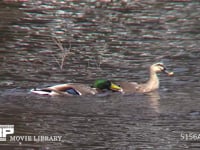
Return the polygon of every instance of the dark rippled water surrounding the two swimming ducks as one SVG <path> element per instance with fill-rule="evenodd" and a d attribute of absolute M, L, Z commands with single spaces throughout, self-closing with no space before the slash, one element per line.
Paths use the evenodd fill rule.
<path fill-rule="evenodd" d="M 0 2 L 0 124 L 14 135 L 60 135 L 62 142 L 0 142 L 1 149 L 200 149 L 200 2 Z M 62 50 L 66 52 L 61 66 Z M 149 95 L 40 97 L 29 90 L 97 78 L 145 81 Z"/>

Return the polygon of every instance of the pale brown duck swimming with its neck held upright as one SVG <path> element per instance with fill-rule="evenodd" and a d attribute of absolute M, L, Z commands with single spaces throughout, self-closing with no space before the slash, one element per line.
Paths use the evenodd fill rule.
<path fill-rule="evenodd" d="M 119 86 L 124 93 L 148 93 L 159 88 L 159 78 L 157 73 L 163 72 L 168 76 L 172 76 L 173 72 L 168 72 L 163 63 L 155 63 L 149 68 L 149 80 L 146 83 L 139 84 L 137 82 L 120 82 Z"/>

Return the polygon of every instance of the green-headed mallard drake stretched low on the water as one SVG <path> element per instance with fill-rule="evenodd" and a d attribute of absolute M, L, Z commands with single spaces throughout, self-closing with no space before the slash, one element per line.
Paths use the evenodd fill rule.
<path fill-rule="evenodd" d="M 109 80 L 99 79 L 92 86 L 80 83 L 59 84 L 42 89 L 32 89 L 32 93 L 40 95 L 95 95 L 106 90 L 122 92 L 122 88 Z"/>

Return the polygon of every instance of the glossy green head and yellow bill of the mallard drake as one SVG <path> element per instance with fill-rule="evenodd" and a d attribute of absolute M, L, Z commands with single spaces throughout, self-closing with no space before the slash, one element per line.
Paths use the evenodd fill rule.
<path fill-rule="evenodd" d="M 104 79 L 96 80 L 94 84 L 92 85 L 92 87 L 96 89 L 100 89 L 100 90 L 107 89 L 107 90 L 112 90 L 112 91 L 117 91 L 117 92 L 123 91 L 122 88 L 119 87 L 118 85 L 112 83 L 109 80 L 104 80 Z"/>

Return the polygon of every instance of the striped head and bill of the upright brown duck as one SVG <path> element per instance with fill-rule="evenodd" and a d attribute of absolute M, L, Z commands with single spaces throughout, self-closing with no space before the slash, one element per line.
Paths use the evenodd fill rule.
<path fill-rule="evenodd" d="M 151 65 L 151 66 L 150 66 L 150 70 L 153 71 L 153 72 L 156 72 L 156 73 L 158 73 L 158 72 L 164 72 L 164 73 L 166 73 L 168 76 L 174 75 L 173 72 L 169 72 L 169 71 L 166 69 L 166 67 L 164 66 L 164 64 L 163 64 L 163 63 L 160 63 L 160 62 Z"/>

